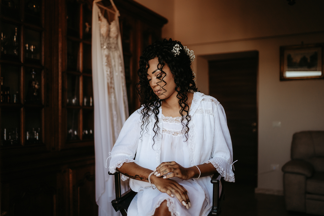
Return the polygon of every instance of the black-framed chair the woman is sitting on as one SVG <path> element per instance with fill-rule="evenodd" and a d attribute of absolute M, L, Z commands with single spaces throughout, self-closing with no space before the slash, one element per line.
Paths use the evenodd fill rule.
<path fill-rule="evenodd" d="M 128 206 L 131 204 L 133 198 L 136 195 L 132 189 L 126 191 L 125 193 L 121 194 L 121 177 L 119 172 L 115 172 L 115 192 L 116 192 L 116 199 L 111 201 L 112 207 L 115 211 L 120 211 L 122 216 L 127 216 Z M 225 199 L 224 194 L 224 179 L 221 175 L 214 174 L 212 180 L 210 181 L 213 184 L 213 207 L 208 216 L 217 216 L 221 213 L 221 203 L 222 200 Z M 221 195 L 219 196 L 219 184 L 222 182 L 222 191 Z"/>

